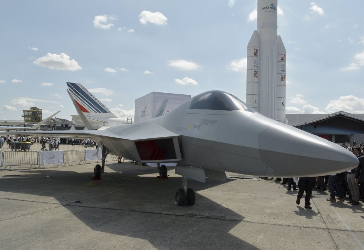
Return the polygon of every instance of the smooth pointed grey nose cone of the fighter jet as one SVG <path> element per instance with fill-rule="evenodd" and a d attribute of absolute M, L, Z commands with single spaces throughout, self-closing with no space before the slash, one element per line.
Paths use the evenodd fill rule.
<path fill-rule="evenodd" d="M 281 177 L 340 173 L 359 163 L 349 150 L 285 124 L 270 124 L 259 135 L 259 149 L 263 161 Z"/>

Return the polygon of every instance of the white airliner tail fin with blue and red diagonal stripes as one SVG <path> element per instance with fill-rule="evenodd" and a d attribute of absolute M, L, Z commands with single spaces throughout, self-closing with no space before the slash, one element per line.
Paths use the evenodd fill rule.
<path fill-rule="evenodd" d="M 80 83 L 67 83 L 69 95 L 77 111 L 94 118 L 116 117 L 101 101 Z"/>

